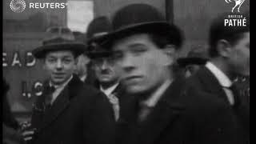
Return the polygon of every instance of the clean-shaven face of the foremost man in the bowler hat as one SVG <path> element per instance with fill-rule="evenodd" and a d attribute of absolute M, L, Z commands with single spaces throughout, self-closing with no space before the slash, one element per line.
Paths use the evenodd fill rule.
<path fill-rule="evenodd" d="M 134 34 L 114 42 L 113 52 L 115 62 L 122 67 L 121 80 L 130 94 L 155 90 L 170 73 L 172 59 L 147 34 Z"/>

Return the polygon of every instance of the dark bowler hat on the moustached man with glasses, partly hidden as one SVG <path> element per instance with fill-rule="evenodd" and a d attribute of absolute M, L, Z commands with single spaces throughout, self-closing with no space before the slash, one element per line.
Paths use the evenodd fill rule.
<path fill-rule="evenodd" d="M 108 34 L 112 30 L 112 26 L 109 18 L 106 16 L 100 16 L 98 18 L 94 18 L 86 32 L 87 37 L 87 46 L 88 51 L 86 51 L 86 55 L 89 58 L 102 58 L 109 56 L 110 52 L 103 49 L 102 46 L 98 45 L 94 39 L 100 38 L 106 34 Z"/>

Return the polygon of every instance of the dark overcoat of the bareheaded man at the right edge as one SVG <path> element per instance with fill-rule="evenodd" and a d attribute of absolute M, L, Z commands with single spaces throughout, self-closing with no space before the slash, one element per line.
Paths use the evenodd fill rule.
<path fill-rule="evenodd" d="M 235 103 L 231 106 L 218 79 L 205 66 L 186 80 L 182 91 L 186 109 L 173 125 L 172 134 L 176 132 L 178 138 L 174 143 L 250 143 L 250 105 L 246 97 L 234 91 Z"/>

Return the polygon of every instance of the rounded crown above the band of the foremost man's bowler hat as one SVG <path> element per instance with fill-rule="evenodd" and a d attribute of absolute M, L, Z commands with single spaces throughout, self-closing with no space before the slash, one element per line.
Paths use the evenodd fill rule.
<path fill-rule="evenodd" d="M 166 22 L 164 16 L 153 6 L 131 4 L 118 10 L 112 21 L 114 30 L 149 22 Z"/>

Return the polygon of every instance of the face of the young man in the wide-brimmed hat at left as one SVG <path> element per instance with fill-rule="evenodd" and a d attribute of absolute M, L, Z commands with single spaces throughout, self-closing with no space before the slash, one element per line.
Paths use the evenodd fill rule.
<path fill-rule="evenodd" d="M 54 51 L 46 54 L 44 70 L 51 82 L 61 85 L 74 73 L 75 58 L 70 50 Z"/>

